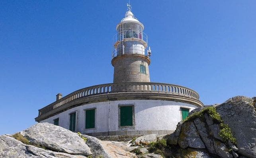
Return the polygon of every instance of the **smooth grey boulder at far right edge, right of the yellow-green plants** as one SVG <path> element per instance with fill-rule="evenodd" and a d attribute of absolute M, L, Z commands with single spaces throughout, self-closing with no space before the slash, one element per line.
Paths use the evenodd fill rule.
<path fill-rule="evenodd" d="M 256 99 L 237 96 L 216 107 L 236 138 L 238 154 L 256 157 Z"/>

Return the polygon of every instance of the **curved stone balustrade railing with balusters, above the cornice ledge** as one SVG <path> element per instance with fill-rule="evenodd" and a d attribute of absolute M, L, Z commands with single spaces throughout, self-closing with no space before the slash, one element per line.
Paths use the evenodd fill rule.
<path fill-rule="evenodd" d="M 87 88 L 82 88 L 67 96 L 39 109 L 38 116 L 52 111 L 62 105 L 74 101 L 79 98 L 96 96 L 107 93 L 121 93 L 121 92 L 159 92 L 166 94 L 175 94 L 178 96 L 186 96 L 188 98 L 199 100 L 199 95 L 194 90 L 183 86 L 174 84 L 154 83 L 154 82 L 126 82 L 126 83 L 111 83 L 100 84 Z"/>

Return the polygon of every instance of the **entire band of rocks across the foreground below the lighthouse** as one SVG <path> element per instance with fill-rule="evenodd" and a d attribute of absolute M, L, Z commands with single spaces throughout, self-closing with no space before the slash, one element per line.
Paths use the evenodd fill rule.
<path fill-rule="evenodd" d="M 256 98 L 234 97 L 194 109 L 170 135 L 122 137 L 124 142 L 37 123 L 0 136 L 0 158 L 255 158 L 255 109 Z"/>

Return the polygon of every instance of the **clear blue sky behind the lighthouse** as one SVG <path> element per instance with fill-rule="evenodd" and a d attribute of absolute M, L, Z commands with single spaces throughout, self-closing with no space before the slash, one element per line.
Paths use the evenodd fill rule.
<path fill-rule="evenodd" d="M 128 0 L 0 1 L 0 134 L 38 109 L 113 82 L 115 26 Z M 205 105 L 256 96 L 255 0 L 131 0 L 152 50 L 151 82 L 196 90 Z"/>

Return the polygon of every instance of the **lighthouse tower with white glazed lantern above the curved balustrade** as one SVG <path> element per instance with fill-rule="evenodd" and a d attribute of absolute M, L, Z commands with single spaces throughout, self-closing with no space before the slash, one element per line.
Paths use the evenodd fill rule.
<path fill-rule="evenodd" d="M 149 64 L 151 55 L 144 25 L 131 12 L 131 5 L 125 18 L 117 25 L 114 37 L 114 51 L 111 64 L 114 66 L 113 83 L 150 82 Z"/>

